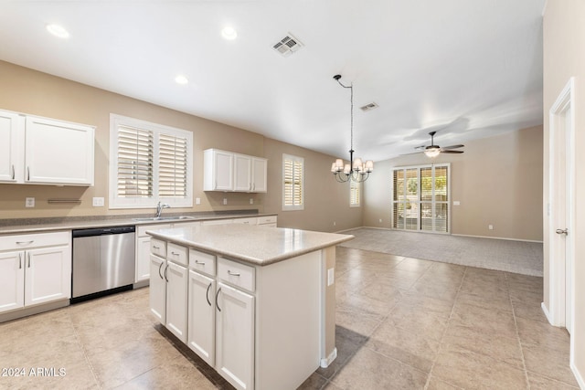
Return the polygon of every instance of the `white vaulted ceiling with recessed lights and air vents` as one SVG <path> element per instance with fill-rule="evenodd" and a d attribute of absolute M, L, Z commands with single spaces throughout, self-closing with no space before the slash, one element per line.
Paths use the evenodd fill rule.
<path fill-rule="evenodd" d="M 380 161 L 431 130 L 447 146 L 542 123 L 544 3 L 0 0 L 0 59 L 347 158 L 341 74 L 356 155 Z M 304 47 L 284 58 L 288 33 Z"/>

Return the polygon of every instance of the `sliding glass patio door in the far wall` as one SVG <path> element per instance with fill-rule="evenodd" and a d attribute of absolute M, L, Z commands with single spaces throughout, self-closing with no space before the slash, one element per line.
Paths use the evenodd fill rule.
<path fill-rule="evenodd" d="M 450 164 L 396 168 L 392 174 L 392 227 L 448 233 Z"/>

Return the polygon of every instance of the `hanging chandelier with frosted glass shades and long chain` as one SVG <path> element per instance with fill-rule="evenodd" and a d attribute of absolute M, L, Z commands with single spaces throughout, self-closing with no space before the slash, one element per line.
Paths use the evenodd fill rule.
<path fill-rule="evenodd" d="M 335 160 L 335 163 L 331 165 L 331 172 L 335 175 L 335 180 L 339 183 L 345 183 L 348 181 L 354 181 L 356 183 L 365 182 L 369 174 L 374 171 L 374 162 L 371 160 L 367 160 L 366 163 L 362 162 L 362 159 L 357 157 L 354 160 L 354 86 L 353 84 L 349 84 L 349 86 L 343 85 L 339 79 L 341 79 L 341 75 L 335 75 L 333 77 L 340 86 L 343 88 L 348 88 L 351 92 L 351 111 L 350 111 L 350 149 L 349 149 L 349 163 L 344 163 L 344 161 L 340 158 Z"/>

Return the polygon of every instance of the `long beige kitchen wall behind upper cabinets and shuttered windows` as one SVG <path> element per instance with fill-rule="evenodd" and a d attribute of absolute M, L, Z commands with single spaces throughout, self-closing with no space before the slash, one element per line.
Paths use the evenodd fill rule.
<path fill-rule="evenodd" d="M 215 121 L 166 109 L 141 100 L 99 90 L 67 79 L 0 61 L 0 110 L 18 111 L 63 121 L 96 126 L 95 185 L 92 187 L 36 184 L 0 184 L 0 219 L 44 216 L 110 216 L 151 213 L 150 209 L 110 210 L 108 163 L 110 113 L 173 126 L 194 133 L 194 197 L 201 205 L 176 208 L 176 212 L 259 209 L 278 213 L 279 226 L 335 231 L 361 225 L 361 211 L 349 210 L 348 191 L 336 184 L 329 170 L 333 157 L 293 145 L 265 139 Z M 218 148 L 269 158 L 268 194 L 203 192 L 203 151 Z M 306 207 L 300 212 L 284 212 L 281 207 L 282 153 L 303 156 L 306 165 Z M 25 207 L 25 197 L 36 198 L 34 208 Z M 93 196 L 102 196 L 105 207 L 91 206 Z M 50 198 L 79 198 L 81 205 L 49 205 Z M 224 198 L 228 206 L 223 206 Z M 250 198 L 254 204 L 250 205 Z M 347 199 L 345 202 L 344 199 Z M 333 199 L 333 202 L 331 201 Z M 195 205 L 195 202 L 194 202 Z M 331 217 L 335 216 L 336 226 Z"/>

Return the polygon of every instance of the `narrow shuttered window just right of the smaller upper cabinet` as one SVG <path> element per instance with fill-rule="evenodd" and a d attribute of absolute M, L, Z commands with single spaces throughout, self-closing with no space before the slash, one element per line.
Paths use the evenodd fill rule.
<path fill-rule="evenodd" d="M 304 209 L 302 157 L 282 154 L 282 211 Z"/>

